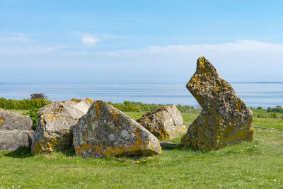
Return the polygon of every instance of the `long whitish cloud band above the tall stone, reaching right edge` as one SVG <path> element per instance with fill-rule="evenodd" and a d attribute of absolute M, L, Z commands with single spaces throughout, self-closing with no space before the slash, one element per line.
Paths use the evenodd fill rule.
<path fill-rule="evenodd" d="M 167 46 L 149 46 L 138 50 L 119 50 L 106 52 L 106 55 L 117 57 L 136 57 L 144 55 L 163 55 L 163 56 L 180 56 L 180 55 L 230 55 L 233 53 L 282 53 L 283 44 L 267 43 L 255 40 L 238 40 L 216 45 L 167 45 Z"/>

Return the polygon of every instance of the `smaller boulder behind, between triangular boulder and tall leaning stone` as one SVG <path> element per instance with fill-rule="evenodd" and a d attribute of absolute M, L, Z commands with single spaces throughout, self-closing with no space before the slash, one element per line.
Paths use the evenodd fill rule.
<path fill-rule="evenodd" d="M 182 115 L 175 105 L 166 105 L 145 113 L 137 122 L 159 139 L 173 139 L 187 131 Z"/>

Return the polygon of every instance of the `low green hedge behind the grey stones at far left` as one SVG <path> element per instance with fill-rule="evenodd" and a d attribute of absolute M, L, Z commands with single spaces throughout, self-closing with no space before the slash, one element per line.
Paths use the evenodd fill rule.
<path fill-rule="evenodd" d="M 31 110 L 33 108 L 42 108 L 45 105 L 50 104 L 49 99 L 32 98 L 23 100 L 13 100 L 0 98 L 0 108 L 2 109 L 14 109 L 14 110 Z"/>

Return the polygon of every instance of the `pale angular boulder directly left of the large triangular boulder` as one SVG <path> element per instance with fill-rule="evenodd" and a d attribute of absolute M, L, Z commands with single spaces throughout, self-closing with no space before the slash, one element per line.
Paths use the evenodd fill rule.
<path fill-rule="evenodd" d="M 85 115 L 93 101 L 72 99 L 51 103 L 40 109 L 35 134 L 33 134 L 32 153 L 49 153 L 64 150 L 72 146 L 73 137 L 70 127 Z"/>

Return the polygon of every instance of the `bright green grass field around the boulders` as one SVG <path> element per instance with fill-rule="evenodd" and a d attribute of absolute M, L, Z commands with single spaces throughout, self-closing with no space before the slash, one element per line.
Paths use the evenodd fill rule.
<path fill-rule="evenodd" d="M 143 113 L 127 113 L 141 118 Z M 186 125 L 198 113 L 183 113 Z M 279 127 L 282 119 L 263 119 Z M 255 119 L 254 125 L 262 124 Z M 282 127 L 281 127 L 282 128 Z M 179 143 L 180 138 L 167 140 Z M 255 129 L 255 142 L 218 151 L 163 149 L 151 157 L 81 159 L 74 151 L 0 152 L 0 188 L 282 188 L 283 132 Z"/>

